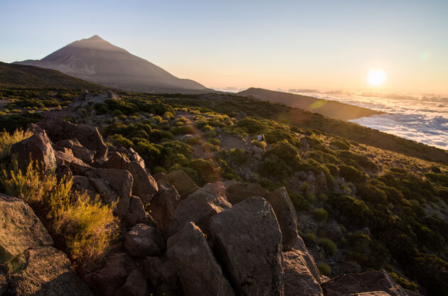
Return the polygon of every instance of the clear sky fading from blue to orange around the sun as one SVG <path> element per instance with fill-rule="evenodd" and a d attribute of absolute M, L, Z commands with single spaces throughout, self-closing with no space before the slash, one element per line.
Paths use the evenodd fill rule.
<path fill-rule="evenodd" d="M 447 0 L 0 0 L 0 61 L 100 35 L 207 87 L 447 96 L 447 15 Z"/>

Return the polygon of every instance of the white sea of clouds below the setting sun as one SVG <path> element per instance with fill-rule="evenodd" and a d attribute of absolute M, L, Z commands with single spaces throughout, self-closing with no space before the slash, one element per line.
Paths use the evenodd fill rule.
<path fill-rule="evenodd" d="M 291 92 L 292 89 L 289 90 Z M 308 91 L 308 92 L 306 92 Z M 448 98 L 437 95 L 400 95 L 348 92 L 309 92 L 294 89 L 293 93 L 383 111 L 387 114 L 351 120 L 361 126 L 448 150 Z"/>

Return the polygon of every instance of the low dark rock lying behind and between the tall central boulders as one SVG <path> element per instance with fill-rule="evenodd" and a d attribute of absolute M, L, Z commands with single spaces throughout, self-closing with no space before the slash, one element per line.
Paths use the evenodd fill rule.
<path fill-rule="evenodd" d="M 242 183 L 238 181 L 226 181 L 223 183 L 225 186 L 225 196 L 230 204 L 238 204 L 247 197 L 264 197 L 269 191 L 261 187 L 257 183 Z"/>

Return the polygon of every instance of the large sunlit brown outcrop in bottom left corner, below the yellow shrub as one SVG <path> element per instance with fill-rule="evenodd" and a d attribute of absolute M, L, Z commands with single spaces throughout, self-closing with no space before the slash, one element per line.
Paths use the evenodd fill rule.
<path fill-rule="evenodd" d="M 0 194 L 0 292 L 92 295 L 23 199 Z"/>

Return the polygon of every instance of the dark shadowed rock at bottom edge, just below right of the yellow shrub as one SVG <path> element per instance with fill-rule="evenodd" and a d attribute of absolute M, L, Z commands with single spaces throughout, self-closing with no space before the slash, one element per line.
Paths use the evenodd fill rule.
<path fill-rule="evenodd" d="M 127 253 L 113 253 L 106 259 L 106 265 L 95 274 L 92 283 L 103 296 L 112 296 L 126 282 L 127 276 L 135 268 L 134 261 Z"/>

